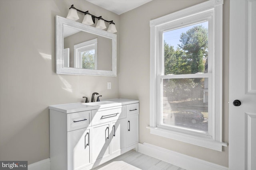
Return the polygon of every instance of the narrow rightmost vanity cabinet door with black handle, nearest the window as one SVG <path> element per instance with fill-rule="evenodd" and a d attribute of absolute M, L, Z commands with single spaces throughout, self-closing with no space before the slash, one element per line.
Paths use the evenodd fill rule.
<path fill-rule="evenodd" d="M 126 147 L 130 147 L 139 142 L 139 115 L 126 118 Z"/>

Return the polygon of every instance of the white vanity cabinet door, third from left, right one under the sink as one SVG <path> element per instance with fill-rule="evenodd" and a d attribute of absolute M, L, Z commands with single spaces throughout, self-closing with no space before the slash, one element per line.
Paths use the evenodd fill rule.
<path fill-rule="evenodd" d="M 126 119 L 111 122 L 111 154 L 119 152 L 125 148 L 126 142 Z"/>

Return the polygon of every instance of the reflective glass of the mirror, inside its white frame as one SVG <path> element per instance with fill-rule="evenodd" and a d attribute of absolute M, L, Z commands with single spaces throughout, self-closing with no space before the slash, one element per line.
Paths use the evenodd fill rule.
<path fill-rule="evenodd" d="M 112 39 L 63 27 L 64 67 L 112 70 Z"/>

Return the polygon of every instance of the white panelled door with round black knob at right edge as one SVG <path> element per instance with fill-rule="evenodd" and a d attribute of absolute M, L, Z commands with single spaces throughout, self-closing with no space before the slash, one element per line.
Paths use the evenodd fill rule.
<path fill-rule="evenodd" d="M 256 170 L 256 0 L 230 0 L 229 73 L 229 169 Z"/>

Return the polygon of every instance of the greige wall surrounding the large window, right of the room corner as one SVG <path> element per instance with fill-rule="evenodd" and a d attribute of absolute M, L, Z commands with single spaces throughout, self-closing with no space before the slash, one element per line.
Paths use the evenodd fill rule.
<path fill-rule="evenodd" d="M 199 4 L 204 0 L 153 0 L 120 16 L 120 98 L 140 100 L 140 143 L 228 166 L 228 147 L 218 152 L 150 134 L 150 20 Z M 228 142 L 229 1 L 224 2 L 223 139 Z"/>

